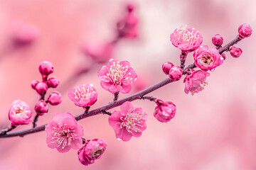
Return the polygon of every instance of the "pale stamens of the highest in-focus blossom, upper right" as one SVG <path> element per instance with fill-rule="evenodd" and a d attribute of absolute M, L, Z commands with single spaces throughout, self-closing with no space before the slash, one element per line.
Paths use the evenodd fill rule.
<path fill-rule="evenodd" d="M 198 33 L 199 31 L 194 28 L 192 28 L 192 31 L 189 31 L 187 28 L 181 28 L 178 30 L 176 40 L 178 41 L 178 44 L 195 45 L 199 38 Z"/>

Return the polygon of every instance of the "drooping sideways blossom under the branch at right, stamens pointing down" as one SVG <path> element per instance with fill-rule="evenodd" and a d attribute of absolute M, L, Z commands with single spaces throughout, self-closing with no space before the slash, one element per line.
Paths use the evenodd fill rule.
<path fill-rule="evenodd" d="M 191 92 L 193 95 L 199 91 L 202 91 L 204 86 L 207 84 L 206 77 L 208 76 L 210 76 L 210 73 L 201 70 L 194 71 L 190 75 L 186 75 L 184 79 L 185 93 L 188 94 Z"/>

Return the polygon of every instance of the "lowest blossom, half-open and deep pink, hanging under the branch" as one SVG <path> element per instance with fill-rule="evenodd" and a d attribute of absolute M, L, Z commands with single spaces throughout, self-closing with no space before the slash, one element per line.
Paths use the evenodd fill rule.
<path fill-rule="evenodd" d="M 105 152 L 107 143 L 104 140 L 89 140 L 85 146 L 78 150 L 78 159 L 81 164 L 89 165 L 100 159 Z"/>

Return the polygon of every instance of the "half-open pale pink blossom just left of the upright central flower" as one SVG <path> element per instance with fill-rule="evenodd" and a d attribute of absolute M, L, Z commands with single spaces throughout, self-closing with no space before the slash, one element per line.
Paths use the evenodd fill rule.
<path fill-rule="evenodd" d="M 80 84 L 68 91 L 68 97 L 76 106 L 92 106 L 97 101 L 97 91 L 90 84 Z"/>

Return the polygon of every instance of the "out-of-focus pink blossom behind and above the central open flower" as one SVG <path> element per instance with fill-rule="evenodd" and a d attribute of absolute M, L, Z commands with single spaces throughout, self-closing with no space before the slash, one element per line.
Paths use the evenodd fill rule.
<path fill-rule="evenodd" d="M 112 58 L 114 46 L 109 42 L 85 42 L 82 51 L 98 63 L 105 63 Z"/>

